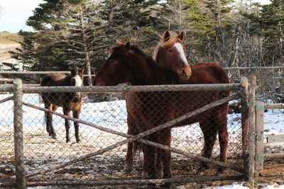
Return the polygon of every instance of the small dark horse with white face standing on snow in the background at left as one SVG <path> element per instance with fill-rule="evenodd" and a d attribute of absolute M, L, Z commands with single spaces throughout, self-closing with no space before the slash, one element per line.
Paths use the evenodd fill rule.
<path fill-rule="evenodd" d="M 40 81 L 40 86 L 82 86 L 84 68 L 70 68 L 70 74 L 61 73 L 46 74 Z M 41 93 L 45 108 L 49 110 L 57 110 L 62 107 L 63 114 L 70 116 L 73 113 L 73 118 L 79 118 L 82 108 L 82 93 L 66 92 L 66 93 Z M 45 113 L 46 130 L 49 136 L 56 139 L 56 133 L 53 128 L 53 113 Z M 79 137 L 79 122 L 74 122 L 76 142 L 80 142 Z M 66 143 L 70 142 L 69 137 L 70 121 L 65 119 Z"/>

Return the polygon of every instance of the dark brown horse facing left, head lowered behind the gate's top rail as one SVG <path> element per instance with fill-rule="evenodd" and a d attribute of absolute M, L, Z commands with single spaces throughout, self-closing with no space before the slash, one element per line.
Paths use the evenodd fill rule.
<path fill-rule="evenodd" d="M 152 57 L 145 55 L 138 47 L 130 45 L 129 42 L 119 41 L 115 47 L 111 48 L 111 54 L 97 72 L 94 82 L 96 86 L 114 86 L 122 83 L 143 86 L 178 84 L 179 79 L 176 78 L 171 69 L 156 64 Z M 182 96 L 185 98 L 181 98 Z M 200 97 L 202 101 L 192 103 L 192 99 L 196 96 Z M 149 130 L 208 103 L 217 101 L 220 96 L 220 93 L 214 91 L 129 92 L 126 94 L 128 133 L 138 134 Z M 216 130 L 225 130 L 224 133 L 227 134 L 226 127 L 219 128 L 218 124 L 218 122 L 226 122 L 226 120 L 206 119 L 217 113 L 226 114 L 221 111 L 222 108 L 220 107 L 207 110 L 174 126 L 186 125 L 200 120 L 203 122 L 200 127 L 203 131 L 207 131 L 208 137 L 211 137 L 209 134 L 215 133 Z M 212 127 L 213 132 L 207 130 L 208 127 L 212 126 L 209 123 L 214 125 Z M 219 133 L 223 132 L 220 131 Z M 222 136 L 223 138 L 222 148 L 226 149 L 227 137 Z M 146 139 L 170 146 L 170 128 L 150 134 Z M 143 176 L 159 178 L 161 176 L 159 171 L 163 167 L 163 178 L 171 177 L 170 151 L 146 144 L 142 144 L 142 151 Z"/>

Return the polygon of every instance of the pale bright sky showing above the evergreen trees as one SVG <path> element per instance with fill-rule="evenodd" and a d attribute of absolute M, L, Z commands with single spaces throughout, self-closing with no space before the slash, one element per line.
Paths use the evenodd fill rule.
<path fill-rule="evenodd" d="M 256 0 L 268 4 L 269 0 Z M 31 31 L 26 20 L 43 0 L 0 0 L 0 32 L 17 33 L 19 30 Z"/>

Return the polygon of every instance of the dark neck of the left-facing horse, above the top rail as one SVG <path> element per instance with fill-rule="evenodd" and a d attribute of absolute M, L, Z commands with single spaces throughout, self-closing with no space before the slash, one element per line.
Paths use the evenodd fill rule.
<path fill-rule="evenodd" d="M 140 60 L 140 61 L 139 61 Z M 163 85 L 173 84 L 174 77 L 168 69 L 160 67 L 150 57 L 145 57 L 144 62 L 139 59 L 135 63 L 133 85 Z"/>

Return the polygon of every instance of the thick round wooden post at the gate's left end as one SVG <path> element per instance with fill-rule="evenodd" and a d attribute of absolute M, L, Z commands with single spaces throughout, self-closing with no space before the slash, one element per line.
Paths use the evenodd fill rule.
<path fill-rule="evenodd" d="M 23 88 L 21 79 L 13 81 L 13 129 L 15 147 L 16 188 L 26 188 L 26 172 L 23 164 Z"/>

